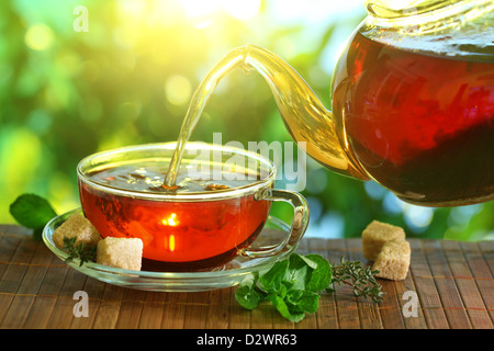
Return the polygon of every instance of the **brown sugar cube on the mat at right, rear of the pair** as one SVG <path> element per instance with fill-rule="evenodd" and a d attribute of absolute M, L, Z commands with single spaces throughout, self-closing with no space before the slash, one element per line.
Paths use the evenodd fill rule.
<path fill-rule="evenodd" d="M 393 239 L 405 239 L 403 228 L 388 223 L 372 220 L 362 231 L 363 257 L 370 261 L 375 261 L 384 242 Z"/>

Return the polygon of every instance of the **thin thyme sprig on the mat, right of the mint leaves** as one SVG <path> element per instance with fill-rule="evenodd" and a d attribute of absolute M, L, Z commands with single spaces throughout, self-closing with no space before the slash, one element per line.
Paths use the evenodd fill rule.
<path fill-rule="evenodd" d="M 360 261 L 346 261 L 341 257 L 339 264 L 332 265 L 333 286 L 346 284 L 352 287 L 353 296 L 370 297 L 374 303 L 384 299 L 385 293 L 381 291 L 382 285 L 375 281 L 374 275 L 379 273 L 370 267 L 362 267 Z M 334 287 L 328 287 L 328 292 L 335 292 Z"/>

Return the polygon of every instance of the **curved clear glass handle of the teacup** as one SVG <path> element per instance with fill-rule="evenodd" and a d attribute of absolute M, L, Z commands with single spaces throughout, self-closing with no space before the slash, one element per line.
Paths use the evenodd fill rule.
<path fill-rule="evenodd" d="M 266 188 L 257 192 L 255 199 L 283 201 L 291 204 L 294 211 L 292 226 L 287 238 L 279 245 L 263 249 L 245 248 L 238 253 L 251 258 L 265 258 L 291 250 L 302 239 L 308 225 L 308 204 L 305 197 L 295 192 Z"/>

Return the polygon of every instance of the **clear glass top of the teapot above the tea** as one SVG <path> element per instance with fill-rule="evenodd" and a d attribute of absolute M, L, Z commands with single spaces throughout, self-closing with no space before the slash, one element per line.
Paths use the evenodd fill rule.
<path fill-rule="evenodd" d="M 383 27 L 401 26 L 436 31 L 462 24 L 494 10 L 492 0 L 366 0 L 373 22 Z"/>

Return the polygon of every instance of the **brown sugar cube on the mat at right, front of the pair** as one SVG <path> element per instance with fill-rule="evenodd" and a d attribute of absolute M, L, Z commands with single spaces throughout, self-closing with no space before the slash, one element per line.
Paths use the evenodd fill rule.
<path fill-rule="evenodd" d="M 378 278 L 402 281 L 408 273 L 411 249 L 408 241 L 394 239 L 385 242 L 379 252 L 372 270 L 379 270 Z"/>

